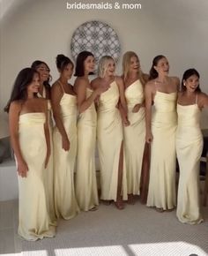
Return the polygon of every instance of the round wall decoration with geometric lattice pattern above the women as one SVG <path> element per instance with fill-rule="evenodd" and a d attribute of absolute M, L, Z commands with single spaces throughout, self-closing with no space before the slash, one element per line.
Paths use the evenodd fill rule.
<path fill-rule="evenodd" d="M 88 50 L 96 62 L 101 56 L 112 56 L 117 62 L 121 47 L 117 34 L 108 24 L 93 20 L 78 26 L 71 39 L 71 56 L 76 60 L 78 53 Z"/>

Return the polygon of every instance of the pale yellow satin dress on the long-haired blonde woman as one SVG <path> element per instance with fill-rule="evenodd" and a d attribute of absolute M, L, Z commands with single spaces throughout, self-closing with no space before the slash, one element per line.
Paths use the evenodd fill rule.
<path fill-rule="evenodd" d="M 137 113 L 132 110 L 135 105 L 142 104 L 144 88 L 139 79 L 125 90 L 130 125 L 124 127 L 124 151 L 126 157 L 126 173 L 128 194 L 140 194 L 140 177 L 145 149 L 145 108 Z"/>

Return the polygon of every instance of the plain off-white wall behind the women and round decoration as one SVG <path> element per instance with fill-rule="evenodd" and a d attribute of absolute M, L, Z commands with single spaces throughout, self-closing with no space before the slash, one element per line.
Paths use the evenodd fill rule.
<path fill-rule="evenodd" d="M 33 60 L 48 63 L 57 78 L 55 58 L 59 53 L 71 56 L 74 30 L 85 21 L 98 19 L 112 26 L 118 34 L 122 54 L 134 50 L 140 56 L 145 72 L 152 58 L 167 56 L 171 75 L 182 77 L 189 67 L 201 74 L 201 87 L 208 93 L 208 1 L 207 0 L 123 0 L 140 3 L 141 10 L 73 11 L 65 0 L 0 0 L 0 108 L 7 102 L 17 73 Z M 71 3 L 80 1 L 68 1 Z M 114 3 L 115 1 L 81 1 Z M 121 58 L 118 64 L 121 72 Z M 2 111 L 2 110 L 1 110 Z M 208 128 L 208 111 L 203 127 Z M 3 117 L 2 117 L 3 118 Z"/>

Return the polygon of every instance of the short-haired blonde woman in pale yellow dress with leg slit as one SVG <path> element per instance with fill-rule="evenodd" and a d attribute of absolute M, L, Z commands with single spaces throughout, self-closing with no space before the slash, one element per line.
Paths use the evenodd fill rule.
<path fill-rule="evenodd" d="M 127 110 L 123 79 L 115 76 L 115 61 L 102 56 L 99 77 L 92 81 L 94 90 L 108 87 L 98 98 L 98 151 L 100 159 L 101 200 L 114 200 L 123 209 L 127 200 L 126 169 L 123 155 L 123 122 L 118 109 L 119 100 Z"/>

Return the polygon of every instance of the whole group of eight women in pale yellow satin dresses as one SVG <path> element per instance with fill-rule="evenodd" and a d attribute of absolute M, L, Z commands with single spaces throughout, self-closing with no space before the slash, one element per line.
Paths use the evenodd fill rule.
<path fill-rule="evenodd" d="M 134 204 L 140 194 L 145 201 L 148 179 L 146 205 L 173 210 L 176 154 L 176 215 L 181 222 L 202 222 L 199 118 L 208 96 L 200 91 L 198 72 L 184 72 L 179 92 L 179 79 L 168 76 L 165 56 L 153 59 L 147 75 L 137 54 L 128 51 L 122 77 L 115 76 L 114 59 L 102 56 L 98 77 L 90 81 L 94 56 L 83 51 L 73 87 L 68 82 L 74 70 L 71 59 L 58 55 L 56 66 L 60 77 L 52 87 L 48 64 L 35 61 L 21 70 L 5 107 L 19 173 L 19 235 L 26 240 L 54 237 L 58 218 L 96 210 L 99 197 L 118 209 L 125 200 Z"/>

